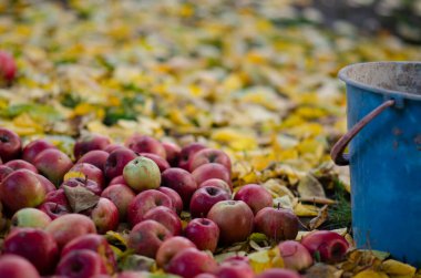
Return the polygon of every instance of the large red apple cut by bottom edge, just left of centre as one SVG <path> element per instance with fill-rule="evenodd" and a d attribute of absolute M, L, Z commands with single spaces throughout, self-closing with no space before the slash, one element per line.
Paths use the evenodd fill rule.
<path fill-rule="evenodd" d="M 217 267 L 214 258 L 207 253 L 196 248 L 186 248 L 170 260 L 167 271 L 184 278 L 194 278 L 204 272 L 213 274 Z"/>

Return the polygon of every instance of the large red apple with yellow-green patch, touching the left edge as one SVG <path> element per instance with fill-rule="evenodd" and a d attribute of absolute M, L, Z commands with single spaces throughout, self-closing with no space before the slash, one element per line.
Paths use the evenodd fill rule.
<path fill-rule="evenodd" d="M 0 184 L 1 203 L 12 213 L 24 207 L 39 206 L 45 194 L 37 174 L 28 169 L 12 172 Z"/>

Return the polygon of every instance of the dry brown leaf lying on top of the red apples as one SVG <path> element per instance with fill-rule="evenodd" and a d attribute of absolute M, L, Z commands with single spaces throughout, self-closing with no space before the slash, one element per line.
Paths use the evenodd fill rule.
<path fill-rule="evenodd" d="M 76 187 L 63 186 L 64 194 L 74 213 L 80 213 L 88 208 L 96 206 L 100 196 L 95 195 L 85 187 L 78 185 Z"/>

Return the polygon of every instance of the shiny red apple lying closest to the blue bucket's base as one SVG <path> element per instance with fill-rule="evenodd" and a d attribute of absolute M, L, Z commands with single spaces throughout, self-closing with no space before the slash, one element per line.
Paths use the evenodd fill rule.
<path fill-rule="evenodd" d="M 321 261 L 339 262 L 345 259 L 349 244 L 341 235 L 330 230 L 316 230 L 306 235 L 301 244 L 315 256 L 320 254 Z"/>

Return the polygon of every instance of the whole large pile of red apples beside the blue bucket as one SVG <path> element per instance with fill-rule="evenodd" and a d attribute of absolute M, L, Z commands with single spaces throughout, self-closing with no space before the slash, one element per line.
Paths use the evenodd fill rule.
<path fill-rule="evenodd" d="M 165 272 L 187 278 L 296 278 L 314 264 L 343 258 L 348 243 L 332 231 L 294 240 L 298 217 L 273 207 L 257 184 L 233 197 L 232 164 L 224 152 L 193 143 L 181 148 L 135 134 L 124 144 L 90 134 L 74 145 L 74 162 L 45 140 L 22 146 L 0 128 L 0 200 L 11 218 L 0 277 L 132 278 L 120 271 L 103 234 L 127 223 L 127 248 L 155 259 Z M 183 227 L 179 215 L 189 210 Z M 254 274 L 247 257 L 217 264 L 217 247 L 263 233 L 278 244 L 285 269 Z"/>

